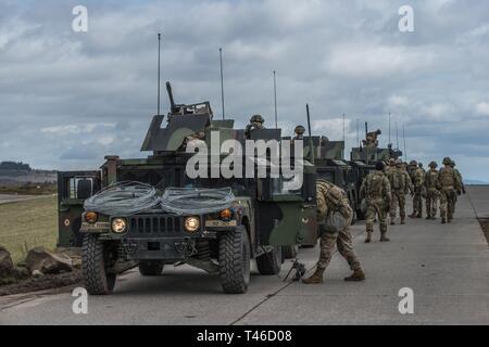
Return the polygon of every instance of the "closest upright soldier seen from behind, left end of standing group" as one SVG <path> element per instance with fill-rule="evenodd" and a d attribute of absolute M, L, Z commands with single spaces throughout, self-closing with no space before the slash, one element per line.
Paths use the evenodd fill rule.
<path fill-rule="evenodd" d="M 372 241 L 372 232 L 374 231 L 374 221 L 378 216 L 379 229 L 380 229 L 380 242 L 389 241 L 386 237 L 387 222 L 386 215 L 390 209 L 390 184 L 386 175 L 383 174 L 384 164 L 378 162 L 375 165 L 375 171 L 368 174 L 362 182 L 360 188 L 361 197 L 366 202 L 366 233 L 365 243 Z"/>

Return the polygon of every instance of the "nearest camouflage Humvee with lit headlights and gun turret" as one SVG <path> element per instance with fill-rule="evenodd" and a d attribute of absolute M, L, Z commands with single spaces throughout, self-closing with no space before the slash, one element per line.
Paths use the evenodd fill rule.
<path fill-rule="evenodd" d="M 299 190 L 286 190 L 281 172 L 264 178 L 228 179 L 220 174 L 217 178 L 190 179 L 186 165 L 193 153 L 185 150 L 189 141 L 199 139 L 209 144 L 211 134 L 218 132 L 220 144 L 229 139 L 244 143 L 244 131 L 234 129 L 231 119 L 214 120 L 209 102 L 177 105 L 170 83 L 167 91 L 167 124 L 162 127 L 164 116 L 155 115 L 141 146 L 151 155 L 138 159 L 106 156 L 100 170 L 60 172 L 60 245 L 75 246 L 82 241 L 83 275 L 92 295 L 110 294 L 116 275 L 133 267 L 139 267 L 142 275 L 158 275 L 164 266 L 180 264 L 218 273 L 225 293 L 244 293 L 252 259 L 261 274 L 277 274 L 283 247 L 317 240 L 313 165 L 304 163 Z M 280 139 L 280 129 L 256 129 L 252 139 Z M 226 156 L 220 153 L 215 165 Z M 240 160 L 243 165 L 251 160 L 256 174 L 256 158 L 242 155 Z M 226 208 L 206 213 L 83 210 L 86 198 L 127 181 L 147 183 L 159 192 L 179 188 L 212 193 L 230 188 L 233 201 Z"/>

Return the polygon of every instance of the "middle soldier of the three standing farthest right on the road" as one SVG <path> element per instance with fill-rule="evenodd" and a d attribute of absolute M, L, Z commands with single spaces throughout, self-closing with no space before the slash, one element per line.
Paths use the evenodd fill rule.
<path fill-rule="evenodd" d="M 455 170 L 451 167 L 452 160 L 449 157 L 443 158 L 443 165 L 438 174 L 440 185 L 440 215 L 441 223 L 450 223 L 453 219 L 453 207 L 455 194 L 461 194 L 461 183 Z"/>

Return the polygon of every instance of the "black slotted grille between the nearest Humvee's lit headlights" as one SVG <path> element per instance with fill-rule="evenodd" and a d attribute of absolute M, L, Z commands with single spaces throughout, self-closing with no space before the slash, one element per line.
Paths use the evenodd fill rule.
<path fill-rule="evenodd" d="M 174 234 L 181 230 L 180 218 L 174 216 L 135 216 L 129 218 L 131 234 Z"/>

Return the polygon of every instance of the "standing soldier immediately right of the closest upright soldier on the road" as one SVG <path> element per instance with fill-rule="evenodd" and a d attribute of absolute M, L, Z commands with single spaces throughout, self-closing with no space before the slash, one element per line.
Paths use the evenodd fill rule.
<path fill-rule="evenodd" d="M 396 168 L 389 171 L 388 179 L 392 194 L 390 204 L 390 224 L 396 224 L 394 219 L 398 204 L 401 224 L 405 224 L 405 194 L 408 192 L 411 192 L 411 194 L 413 194 L 413 184 L 411 184 L 411 178 L 404 170 L 404 167 L 400 159 L 396 162 Z"/>

